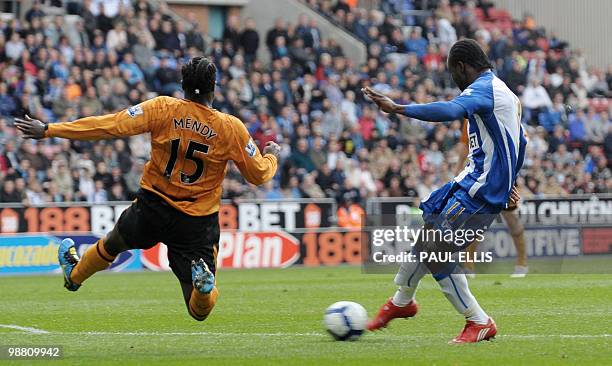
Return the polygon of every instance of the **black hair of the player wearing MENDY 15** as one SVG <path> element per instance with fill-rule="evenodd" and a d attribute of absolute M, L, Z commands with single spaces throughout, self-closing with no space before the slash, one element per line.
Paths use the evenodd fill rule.
<path fill-rule="evenodd" d="M 206 57 L 197 56 L 181 68 L 181 85 L 186 95 L 204 95 L 215 91 L 217 67 Z"/>

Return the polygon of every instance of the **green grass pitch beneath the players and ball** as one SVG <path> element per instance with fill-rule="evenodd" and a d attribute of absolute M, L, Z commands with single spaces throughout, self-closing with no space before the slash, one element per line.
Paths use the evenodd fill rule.
<path fill-rule="evenodd" d="M 370 315 L 392 275 L 358 267 L 224 270 L 210 318 L 191 320 L 171 273 L 98 274 L 76 293 L 57 276 L 0 278 L 0 345 L 62 345 L 53 364 L 602 365 L 612 361 L 612 275 L 481 275 L 472 290 L 497 321 L 493 342 L 450 346 L 463 319 L 427 278 L 414 319 L 357 342 L 323 331 L 338 300 Z M 0 361 L 0 363 L 8 361 Z M 31 362 L 31 361 L 30 361 Z M 37 361 L 37 363 L 41 363 Z M 16 365 L 25 364 L 15 361 Z"/>

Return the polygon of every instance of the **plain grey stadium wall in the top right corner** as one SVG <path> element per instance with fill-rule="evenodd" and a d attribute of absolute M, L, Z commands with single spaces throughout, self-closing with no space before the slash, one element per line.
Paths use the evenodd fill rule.
<path fill-rule="evenodd" d="M 609 41 L 610 0 L 493 0 L 499 8 L 505 8 L 515 19 L 523 14 L 533 15 L 538 26 L 557 33 L 569 41 L 571 47 L 584 52 L 589 65 L 605 68 L 612 64 L 612 47 Z M 606 47 L 606 45 L 608 45 Z"/>

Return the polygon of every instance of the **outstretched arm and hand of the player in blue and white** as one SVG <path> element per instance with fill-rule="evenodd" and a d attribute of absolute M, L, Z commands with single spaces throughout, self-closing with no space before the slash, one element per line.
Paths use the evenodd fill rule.
<path fill-rule="evenodd" d="M 454 121 L 464 118 L 466 114 L 465 109 L 459 103 L 453 101 L 401 105 L 371 88 L 364 88 L 362 91 L 376 103 L 380 110 L 386 113 L 398 113 L 431 122 Z"/>

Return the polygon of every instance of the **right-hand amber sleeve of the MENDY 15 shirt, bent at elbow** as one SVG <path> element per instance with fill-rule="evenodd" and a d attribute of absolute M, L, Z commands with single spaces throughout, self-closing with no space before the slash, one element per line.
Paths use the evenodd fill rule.
<path fill-rule="evenodd" d="M 242 176 L 251 184 L 263 184 L 276 174 L 278 161 L 272 154 L 261 155 L 246 127 L 236 117 L 229 116 L 233 130 L 230 157 Z"/>

